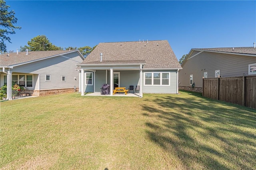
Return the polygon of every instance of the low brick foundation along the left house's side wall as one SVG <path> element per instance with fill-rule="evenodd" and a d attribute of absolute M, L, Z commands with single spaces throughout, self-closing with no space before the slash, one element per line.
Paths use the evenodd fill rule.
<path fill-rule="evenodd" d="M 72 89 L 52 89 L 52 90 L 31 90 L 30 95 L 32 95 L 32 96 L 47 96 L 47 95 L 56 95 L 56 94 L 61 94 L 61 93 L 72 93 L 72 92 L 74 92 L 74 88 L 72 88 Z"/>

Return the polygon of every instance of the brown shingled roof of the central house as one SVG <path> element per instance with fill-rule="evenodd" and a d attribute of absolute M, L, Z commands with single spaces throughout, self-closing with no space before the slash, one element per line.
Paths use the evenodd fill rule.
<path fill-rule="evenodd" d="M 99 62 L 100 53 L 102 62 Z M 138 62 L 146 62 L 144 69 L 181 69 L 167 40 L 99 43 L 84 59 L 82 65 Z"/>

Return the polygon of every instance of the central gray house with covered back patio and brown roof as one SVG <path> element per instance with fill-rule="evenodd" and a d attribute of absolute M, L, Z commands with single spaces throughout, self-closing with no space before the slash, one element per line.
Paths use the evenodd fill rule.
<path fill-rule="evenodd" d="M 181 66 L 167 40 L 99 43 L 80 66 L 80 91 L 100 92 L 104 83 L 140 86 L 142 93 L 178 93 Z M 84 95 L 84 93 L 82 93 Z"/>

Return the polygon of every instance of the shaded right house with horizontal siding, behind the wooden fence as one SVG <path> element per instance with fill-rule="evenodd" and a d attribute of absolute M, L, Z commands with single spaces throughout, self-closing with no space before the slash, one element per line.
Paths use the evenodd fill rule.
<path fill-rule="evenodd" d="M 191 49 L 181 66 L 179 89 L 202 92 L 203 77 L 256 75 L 256 47 Z"/>

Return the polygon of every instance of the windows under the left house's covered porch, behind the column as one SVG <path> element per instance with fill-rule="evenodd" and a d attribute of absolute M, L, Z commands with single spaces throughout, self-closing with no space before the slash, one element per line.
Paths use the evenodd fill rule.
<path fill-rule="evenodd" d="M 33 75 L 12 75 L 12 82 L 23 87 L 33 87 Z M 7 85 L 7 75 L 4 75 L 4 85 Z"/>

